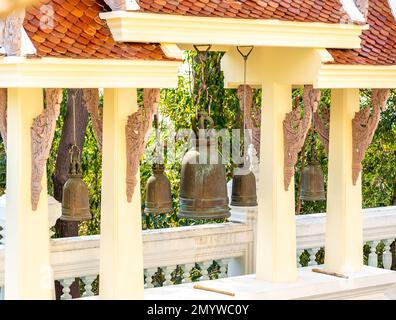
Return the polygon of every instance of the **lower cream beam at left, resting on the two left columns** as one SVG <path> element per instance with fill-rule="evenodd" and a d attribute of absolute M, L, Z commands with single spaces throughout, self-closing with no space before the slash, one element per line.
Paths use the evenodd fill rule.
<path fill-rule="evenodd" d="M 0 88 L 175 88 L 181 61 L 0 58 Z"/>

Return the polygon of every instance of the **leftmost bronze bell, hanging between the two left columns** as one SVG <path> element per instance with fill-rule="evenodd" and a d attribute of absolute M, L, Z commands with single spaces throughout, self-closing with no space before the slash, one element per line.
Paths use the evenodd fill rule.
<path fill-rule="evenodd" d="M 63 186 L 61 220 L 78 222 L 90 220 L 92 216 L 89 209 L 89 191 L 82 180 L 80 150 L 77 146 L 73 146 L 70 152 L 72 155 L 69 179 Z"/>

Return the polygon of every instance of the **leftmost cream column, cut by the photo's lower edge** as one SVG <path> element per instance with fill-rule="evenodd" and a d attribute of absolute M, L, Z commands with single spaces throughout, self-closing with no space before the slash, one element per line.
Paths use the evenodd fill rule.
<path fill-rule="evenodd" d="M 47 177 L 36 211 L 31 204 L 31 134 L 43 110 L 42 89 L 8 90 L 5 298 L 52 299 Z"/>

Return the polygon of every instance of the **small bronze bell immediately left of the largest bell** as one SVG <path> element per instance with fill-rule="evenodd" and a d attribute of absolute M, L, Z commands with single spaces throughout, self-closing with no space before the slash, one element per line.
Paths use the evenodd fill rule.
<path fill-rule="evenodd" d="M 169 179 L 164 174 L 165 166 L 155 163 L 153 175 L 147 181 L 146 214 L 163 214 L 173 211 L 172 193 Z"/>

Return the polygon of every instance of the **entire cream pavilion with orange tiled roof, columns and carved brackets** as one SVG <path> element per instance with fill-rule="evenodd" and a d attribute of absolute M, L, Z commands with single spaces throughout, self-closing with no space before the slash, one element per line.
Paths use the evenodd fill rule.
<path fill-rule="evenodd" d="M 361 161 L 396 87 L 395 12 L 390 0 L 43 0 L 10 15 L 0 38 L 0 87 L 8 91 L 5 297 L 53 298 L 43 191 L 59 108 L 53 89 L 104 88 L 100 296 L 143 298 L 139 183 L 132 193 L 126 183 L 138 177 L 128 152 L 138 159 L 140 149 L 127 151 L 126 127 L 138 125 L 130 117 L 136 88 L 146 88 L 145 103 L 154 106 L 155 88 L 177 86 L 180 50 L 202 44 L 226 52 L 228 88 L 243 84 L 236 46 L 255 46 L 247 81 L 263 95 L 257 279 L 297 280 L 292 179 L 312 117 L 323 124 L 329 157 L 325 269 L 361 271 Z M 304 116 L 292 108 L 294 86 L 304 86 Z M 332 90 L 330 118 L 317 111 L 322 88 Z M 360 88 L 372 89 L 372 111 L 360 110 Z"/>

